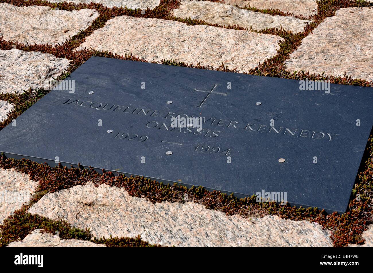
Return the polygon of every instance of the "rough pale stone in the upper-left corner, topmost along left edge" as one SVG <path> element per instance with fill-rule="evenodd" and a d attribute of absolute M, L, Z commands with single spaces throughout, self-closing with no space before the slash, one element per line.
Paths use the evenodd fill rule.
<path fill-rule="evenodd" d="M 98 17 L 92 9 L 53 10 L 47 6 L 17 7 L 0 3 L 3 39 L 23 44 L 64 43 Z"/>

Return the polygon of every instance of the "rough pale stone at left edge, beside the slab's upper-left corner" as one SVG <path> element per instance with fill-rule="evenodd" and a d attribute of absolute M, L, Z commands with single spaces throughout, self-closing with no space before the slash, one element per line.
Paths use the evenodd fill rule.
<path fill-rule="evenodd" d="M 22 93 L 30 87 L 43 88 L 69 67 L 70 61 L 52 54 L 0 50 L 0 93 Z"/>

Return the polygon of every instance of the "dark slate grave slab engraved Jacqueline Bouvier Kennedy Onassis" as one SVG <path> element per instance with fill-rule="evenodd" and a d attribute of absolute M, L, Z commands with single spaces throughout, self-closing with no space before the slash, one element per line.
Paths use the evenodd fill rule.
<path fill-rule="evenodd" d="M 372 130 L 372 88 L 101 57 L 68 80 L 0 131 L 1 152 L 345 212 Z M 203 129 L 170 127 L 177 114 Z"/>

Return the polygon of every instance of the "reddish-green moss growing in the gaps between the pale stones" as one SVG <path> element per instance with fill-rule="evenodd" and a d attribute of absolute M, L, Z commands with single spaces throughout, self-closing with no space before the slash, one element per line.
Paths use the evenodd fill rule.
<path fill-rule="evenodd" d="M 60 45 L 24 45 L 18 43 L 12 43 L 7 41 L 2 41 L 0 39 L 0 49 L 9 50 L 12 49 L 12 45 L 16 45 L 16 48 L 23 51 L 40 51 L 42 53 L 50 53 L 58 58 L 68 58 L 72 60 L 71 66 L 68 73 L 62 75 L 59 79 L 66 78 L 69 73 L 79 67 L 91 56 L 101 56 L 110 58 L 119 58 L 126 60 L 143 61 L 132 55 L 117 55 L 110 52 L 102 52 L 95 50 L 83 50 L 83 51 L 73 51 L 78 45 L 80 45 L 87 35 L 90 35 L 95 29 L 104 26 L 107 20 L 121 15 L 129 15 L 135 17 L 144 18 L 163 18 L 170 20 L 178 20 L 180 22 L 185 22 L 191 25 L 205 24 L 211 25 L 201 20 L 191 20 L 171 18 L 168 14 L 170 9 L 178 7 L 178 0 L 161 0 L 160 6 L 154 8 L 153 10 L 147 9 L 145 14 L 141 14 L 141 10 L 131 10 L 126 8 L 113 8 L 109 9 L 101 4 L 72 4 L 72 3 L 49 3 L 40 0 L 0 0 L 0 2 L 6 2 L 14 4 L 16 6 L 50 6 L 58 7 L 60 10 L 73 10 L 73 9 L 96 9 L 100 16 L 94 20 L 92 25 L 85 31 L 73 36 L 69 41 Z M 279 35 L 285 39 L 284 42 L 280 43 L 280 50 L 278 54 L 268 60 L 263 64 L 258 64 L 253 70 L 250 70 L 249 74 L 271 76 L 271 77 L 282 77 L 288 79 L 308 79 L 311 80 L 330 80 L 332 83 L 341 83 L 348 85 L 360 85 L 360 86 L 372 86 L 373 82 L 366 82 L 361 79 L 351 79 L 351 77 L 333 77 L 309 74 L 309 72 L 304 73 L 289 73 L 284 69 L 283 62 L 289 58 L 289 54 L 293 52 L 301 43 L 301 40 L 311 33 L 311 31 L 317 27 L 325 18 L 335 15 L 336 10 L 345 7 L 367 7 L 371 4 L 365 1 L 349 1 L 349 0 L 321 0 L 317 2 L 318 13 L 313 17 L 313 22 L 305 27 L 305 31 L 298 34 L 292 34 L 292 32 L 285 32 L 282 29 L 265 29 L 258 31 L 260 33 L 275 34 Z M 219 25 L 214 25 L 219 26 Z M 243 29 L 239 26 L 225 26 L 226 28 Z M 199 69 L 214 69 L 213 67 L 203 67 L 200 64 L 186 64 L 177 62 L 175 60 L 162 60 L 163 64 L 175 65 L 175 66 L 187 66 L 195 67 Z M 235 69 L 229 69 L 222 64 L 220 67 L 215 68 L 215 70 L 226 71 L 226 72 L 236 72 Z M 28 109 L 32 104 L 34 104 L 38 99 L 44 96 L 48 91 L 36 90 L 27 91 L 21 95 L 18 94 L 1 94 L 0 99 L 9 101 L 13 104 L 15 109 L 11 111 L 8 115 L 7 120 L 0 123 L 1 128 L 9 124 L 12 119 L 18 117 L 23 111 Z M 334 245 L 344 246 L 347 244 L 362 243 L 361 233 L 367 229 L 367 225 L 372 223 L 373 215 L 373 191 L 372 191 L 372 176 L 373 176 L 373 140 L 369 139 L 369 157 L 364 159 L 365 168 L 364 171 L 359 174 L 359 181 L 355 184 L 354 190 L 352 191 L 352 199 L 349 204 L 348 212 L 343 215 L 338 215 L 338 213 L 332 213 L 327 215 L 325 212 L 318 210 L 317 208 L 295 208 L 286 206 L 279 206 L 275 202 L 271 203 L 257 203 L 255 197 L 237 199 L 233 195 L 222 194 L 220 192 L 209 192 L 202 187 L 192 187 L 187 189 L 180 185 L 164 185 L 157 181 L 151 181 L 142 177 L 124 177 L 123 175 L 114 176 L 110 172 L 104 172 L 100 175 L 93 169 L 82 169 L 82 168 L 66 168 L 66 167 L 55 167 L 51 168 L 45 164 L 37 164 L 29 160 L 14 160 L 6 159 L 1 157 L 0 167 L 1 168 L 15 168 L 18 171 L 29 174 L 32 179 L 39 181 L 38 193 L 34 195 L 34 202 L 41 198 L 48 191 L 57 191 L 63 188 L 69 188 L 74 185 L 84 184 L 87 181 L 94 181 L 96 184 L 109 184 L 117 187 L 124 187 L 126 191 L 131 196 L 137 197 L 147 197 L 152 202 L 160 201 L 178 201 L 184 202 L 184 194 L 188 194 L 189 200 L 194 200 L 200 204 L 204 204 L 209 209 L 215 209 L 225 212 L 227 215 L 239 214 L 244 217 L 250 216 L 264 216 L 264 215 L 279 215 L 283 218 L 288 218 L 292 220 L 309 220 L 311 222 L 320 223 L 323 228 L 330 229 L 332 231 L 332 240 Z M 360 200 L 354 197 L 360 195 Z M 330 197 L 333 198 L 333 197 Z M 12 218 L 13 217 L 13 218 Z M 47 222 L 46 222 L 47 221 Z M 11 240 L 17 238 L 24 238 L 29 232 L 35 228 L 46 228 L 49 231 L 53 229 L 60 228 L 62 231 L 66 229 L 66 232 L 60 232 L 62 238 L 64 234 L 66 236 L 72 236 L 71 238 L 88 238 L 86 231 L 81 231 L 78 229 L 67 229 L 66 223 L 58 222 L 51 224 L 48 222 L 51 220 L 40 218 L 40 216 L 27 215 L 25 210 L 19 210 L 14 216 L 10 216 L 9 219 L 4 220 L 4 225 L 0 228 L 3 229 L 3 238 L 1 245 L 9 243 Z M 43 224 L 44 223 L 44 224 Z M 53 228 L 48 229 L 51 226 Z M 14 234 L 14 235 L 12 235 Z M 75 237 L 73 237 L 75 236 Z M 143 246 L 143 243 L 136 243 L 128 238 L 110 238 L 110 239 L 96 239 L 97 242 L 105 242 L 107 245 L 133 245 L 133 246 Z M 146 245 L 146 243 L 145 243 Z M 149 245 L 150 246 L 150 245 Z"/>

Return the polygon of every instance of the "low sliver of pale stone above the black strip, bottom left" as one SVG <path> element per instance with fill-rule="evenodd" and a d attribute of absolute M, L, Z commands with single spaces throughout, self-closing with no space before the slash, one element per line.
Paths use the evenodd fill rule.
<path fill-rule="evenodd" d="M 7 247 L 106 247 L 90 241 L 61 239 L 57 234 L 40 233 L 43 229 L 34 229 L 22 241 L 11 242 Z"/>

